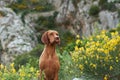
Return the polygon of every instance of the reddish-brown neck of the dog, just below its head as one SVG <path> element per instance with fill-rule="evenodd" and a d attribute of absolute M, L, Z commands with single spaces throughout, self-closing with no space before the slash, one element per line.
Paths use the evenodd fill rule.
<path fill-rule="evenodd" d="M 45 45 L 44 51 L 46 51 L 47 55 L 53 56 L 56 51 L 55 51 L 56 45 Z"/>

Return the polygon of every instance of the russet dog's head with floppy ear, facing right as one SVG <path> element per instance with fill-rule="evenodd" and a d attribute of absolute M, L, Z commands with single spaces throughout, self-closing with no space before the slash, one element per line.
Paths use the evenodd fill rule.
<path fill-rule="evenodd" d="M 44 44 L 60 44 L 59 34 L 55 30 L 48 30 L 43 33 L 41 41 Z"/>

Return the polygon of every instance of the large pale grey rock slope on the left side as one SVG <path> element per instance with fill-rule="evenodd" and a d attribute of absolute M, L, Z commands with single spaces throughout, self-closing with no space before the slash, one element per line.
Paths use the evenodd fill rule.
<path fill-rule="evenodd" d="M 32 50 L 37 39 L 34 31 L 24 25 L 11 9 L 0 7 L 0 42 L 0 59 L 2 63 L 7 64 L 14 59 L 13 55 Z"/>

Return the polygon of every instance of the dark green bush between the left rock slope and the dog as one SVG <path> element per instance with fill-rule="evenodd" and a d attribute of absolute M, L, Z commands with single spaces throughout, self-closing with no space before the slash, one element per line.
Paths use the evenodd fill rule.
<path fill-rule="evenodd" d="M 42 53 L 43 46 L 38 45 L 35 47 L 31 52 L 24 53 L 19 56 L 17 56 L 14 60 L 15 68 L 18 69 L 21 65 L 26 65 L 29 63 L 32 67 L 36 67 L 38 69 L 38 60 L 40 57 L 40 54 Z"/>

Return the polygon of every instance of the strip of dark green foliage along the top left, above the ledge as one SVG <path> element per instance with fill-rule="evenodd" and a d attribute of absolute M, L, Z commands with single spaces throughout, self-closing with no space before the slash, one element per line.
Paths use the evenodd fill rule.
<path fill-rule="evenodd" d="M 47 0 L 17 0 L 17 2 L 8 5 L 16 13 L 23 11 L 50 11 L 54 7 L 52 4 L 48 3 Z"/>

